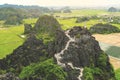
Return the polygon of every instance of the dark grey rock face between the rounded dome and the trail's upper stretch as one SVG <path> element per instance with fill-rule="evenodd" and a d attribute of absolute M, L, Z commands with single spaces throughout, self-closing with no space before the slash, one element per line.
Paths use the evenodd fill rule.
<path fill-rule="evenodd" d="M 68 37 L 65 36 L 63 30 L 57 30 L 55 41 L 48 43 L 47 51 L 49 52 L 49 56 L 53 57 L 55 53 L 60 52 L 60 50 L 65 48 L 65 44 L 68 41 Z"/>

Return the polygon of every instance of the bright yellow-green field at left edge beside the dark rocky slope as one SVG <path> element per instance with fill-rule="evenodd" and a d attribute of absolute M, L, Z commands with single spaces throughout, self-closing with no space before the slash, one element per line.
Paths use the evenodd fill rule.
<path fill-rule="evenodd" d="M 12 53 L 24 40 L 19 37 L 24 31 L 23 25 L 0 30 L 0 58 Z"/>

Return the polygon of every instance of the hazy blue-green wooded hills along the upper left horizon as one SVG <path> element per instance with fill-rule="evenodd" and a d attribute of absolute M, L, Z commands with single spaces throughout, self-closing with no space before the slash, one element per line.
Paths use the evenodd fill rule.
<path fill-rule="evenodd" d="M 0 20 L 6 20 L 13 15 L 19 15 L 19 18 L 37 18 L 48 12 L 50 10 L 47 7 L 3 4 L 0 5 Z"/>

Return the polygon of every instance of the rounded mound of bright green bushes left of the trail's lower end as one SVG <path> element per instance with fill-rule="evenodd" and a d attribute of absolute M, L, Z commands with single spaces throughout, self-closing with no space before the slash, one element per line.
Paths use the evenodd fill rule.
<path fill-rule="evenodd" d="M 43 62 L 35 63 L 23 68 L 19 77 L 21 79 L 27 79 L 28 77 L 38 77 L 41 80 L 65 80 L 67 73 L 63 69 L 54 64 L 53 59 L 48 59 Z"/>

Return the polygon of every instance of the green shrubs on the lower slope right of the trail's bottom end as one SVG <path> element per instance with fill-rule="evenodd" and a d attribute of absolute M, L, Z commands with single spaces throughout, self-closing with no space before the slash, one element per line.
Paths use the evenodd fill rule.
<path fill-rule="evenodd" d="M 109 64 L 109 68 L 106 67 L 106 65 L 108 65 L 108 62 L 106 62 L 107 59 L 108 59 L 107 55 L 105 53 L 101 53 L 97 61 L 98 66 L 91 65 L 90 67 L 84 68 L 84 71 L 83 71 L 84 79 L 85 80 L 97 80 L 97 77 L 95 76 L 102 75 L 98 79 L 107 80 L 108 77 L 111 77 L 110 80 L 114 80 L 114 69 L 111 64 Z M 111 74 L 107 75 L 108 73 L 111 73 Z"/>

